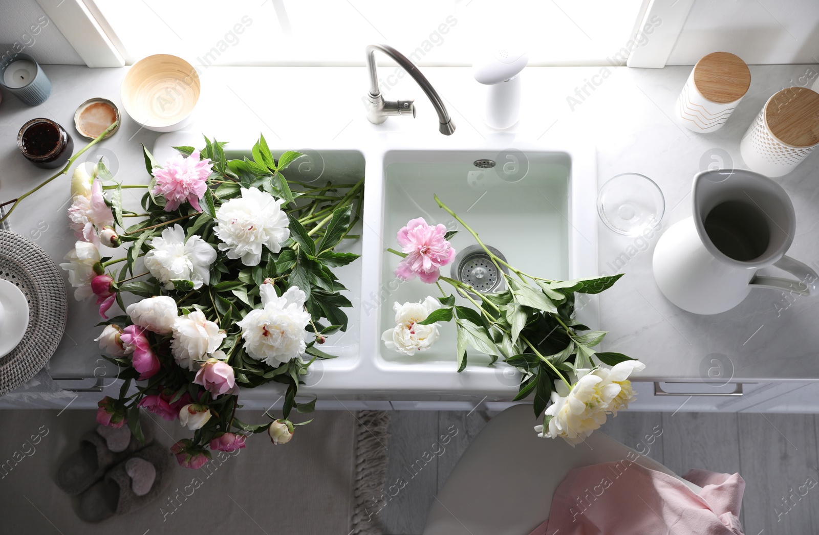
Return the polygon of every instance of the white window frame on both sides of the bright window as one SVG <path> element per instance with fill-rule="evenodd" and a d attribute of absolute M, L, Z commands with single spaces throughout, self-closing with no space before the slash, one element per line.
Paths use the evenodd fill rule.
<path fill-rule="evenodd" d="M 644 0 L 641 23 L 623 48 L 629 67 L 663 68 L 695 0 Z M 93 0 L 37 0 L 88 67 L 125 65 L 124 48 Z M 639 17 L 638 17 L 639 18 Z M 661 20 L 662 24 L 656 24 Z M 650 34 L 649 34 L 650 31 Z"/>

